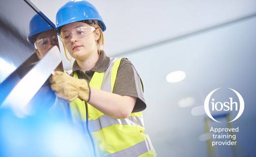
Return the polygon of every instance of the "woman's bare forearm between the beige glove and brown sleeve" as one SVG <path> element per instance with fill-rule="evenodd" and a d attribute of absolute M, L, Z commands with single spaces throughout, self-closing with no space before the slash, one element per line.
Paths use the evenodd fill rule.
<path fill-rule="evenodd" d="M 91 96 L 88 103 L 108 116 L 123 119 L 127 118 L 132 112 L 136 99 L 91 87 Z"/>

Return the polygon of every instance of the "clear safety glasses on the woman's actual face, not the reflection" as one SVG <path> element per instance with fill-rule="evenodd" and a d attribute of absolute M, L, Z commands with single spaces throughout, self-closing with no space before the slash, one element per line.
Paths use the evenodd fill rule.
<path fill-rule="evenodd" d="M 96 28 L 93 26 L 79 26 L 72 29 L 71 32 L 64 31 L 61 33 L 61 41 L 66 43 L 69 43 L 71 41 L 72 35 L 74 35 L 76 38 L 81 39 L 85 37 L 86 35 L 92 33 L 95 31 Z"/>

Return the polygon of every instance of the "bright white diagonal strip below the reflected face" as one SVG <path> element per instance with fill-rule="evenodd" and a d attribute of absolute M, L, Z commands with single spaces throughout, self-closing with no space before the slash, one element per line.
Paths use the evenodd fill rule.
<path fill-rule="evenodd" d="M 2 106 L 10 106 L 16 114 L 27 114 L 26 105 L 61 63 L 59 48 L 54 46 L 13 88 Z"/>

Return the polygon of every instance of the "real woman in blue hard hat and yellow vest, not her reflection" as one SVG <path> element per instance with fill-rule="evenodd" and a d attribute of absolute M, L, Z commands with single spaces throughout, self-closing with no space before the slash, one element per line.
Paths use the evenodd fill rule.
<path fill-rule="evenodd" d="M 101 50 L 106 26 L 96 8 L 83 0 L 67 2 L 56 22 L 64 49 L 75 61 L 72 77 L 56 72 L 51 87 L 70 102 L 75 123 L 86 123 L 88 116 L 97 156 L 155 157 L 143 133 L 142 82 L 127 58 L 110 58 Z"/>

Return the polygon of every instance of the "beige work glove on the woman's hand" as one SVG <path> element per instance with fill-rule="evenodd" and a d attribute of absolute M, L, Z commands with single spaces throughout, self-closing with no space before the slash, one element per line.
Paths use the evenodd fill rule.
<path fill-rule="evenodd" d="M 90 99 L 90 86 L 85 79 L 73 78 L 67 73 L 55 71 L 50 78 L 51 88 L 55 94 L 69 102 L 80 98 L 86 102 Z"/>

